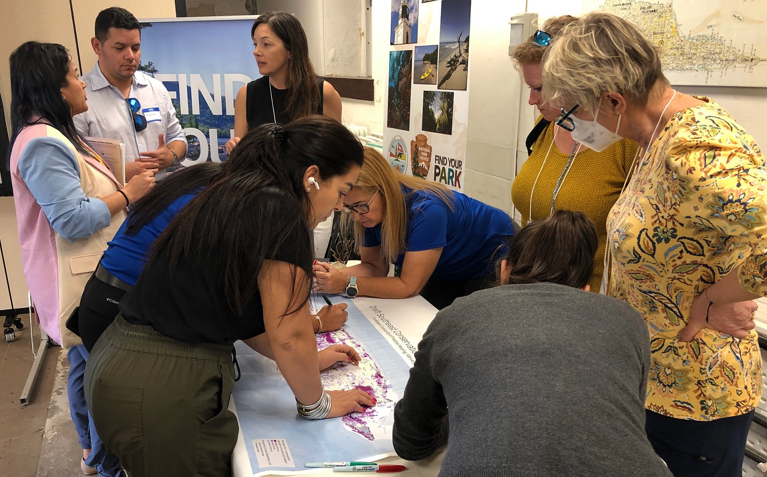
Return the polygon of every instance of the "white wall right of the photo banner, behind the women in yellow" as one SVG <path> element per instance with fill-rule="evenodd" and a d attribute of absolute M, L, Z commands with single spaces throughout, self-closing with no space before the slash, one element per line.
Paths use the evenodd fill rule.
<path fill-rule="evenodd" d="M 511 183 L 527 159 L 525 137 L 536 116 L 534 106 L 527 104 L 527 87 L 520 75 L 509 67 L 509 25 L 505 23 L 511 15 L 525 11 L 525 4 L 527 11 L 538 13 L 540 24 L 552 16 L 584 13 L 582 0 L 472 2 L 472 76 L 466 155 L 469 170 L 465 191 L 509 212 L 512 211 Z M 713 98 L 755 137 L 762 149 L 767 148 L 767 122 L 759 114 L 767 110 L 767 88 L 675 86 L 675 89 Z M 518 115 L 505 110 L 506 107 L 518 108 Z M 514 142 L 516 147 L 512 145 Z"/>

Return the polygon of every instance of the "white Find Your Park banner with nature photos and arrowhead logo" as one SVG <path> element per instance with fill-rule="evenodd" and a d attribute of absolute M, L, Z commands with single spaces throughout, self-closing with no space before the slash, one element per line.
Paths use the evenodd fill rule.
<path fill-rule="evenodd" d="M 384 128 L 393 168 L 456 191 L 466 180 L 470 5 L 421 2 L 419 17 L 432 22 L 420 25 L 418 44 L 391 45 Z"/>

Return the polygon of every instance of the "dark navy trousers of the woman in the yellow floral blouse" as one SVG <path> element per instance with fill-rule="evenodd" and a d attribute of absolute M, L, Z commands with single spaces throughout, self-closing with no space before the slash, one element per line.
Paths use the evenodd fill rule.
<path fill-rule="evenodd" d="M 754 411 L 700 421 L 645 410 L 647 438 L 674 477 L 740 477 Z"/>

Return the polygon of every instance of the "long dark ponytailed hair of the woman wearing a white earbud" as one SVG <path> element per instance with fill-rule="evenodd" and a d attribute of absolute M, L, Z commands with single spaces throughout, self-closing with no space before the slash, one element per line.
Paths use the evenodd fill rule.
<path fill-rule="evenodd" d="M 229 306 L 240 314 L 258 289 L 264 260 L 294 263 L 294 281 L 298 269 L 305 279 L 304 291 L 292 292 L 285 311 L 294 313 L 308 299 L 314 258 L 304 172 L 316 165 L 320 179 L 327 181 L 362 161 L 359 140 L 325 116 L 252 129 L 232 149 L 221 172 L 157 238 L 149 265 L 160 254 L 167 254 L 170 273 L 180 260 L 215 263 L 212 273 L 219 274 Z"/>

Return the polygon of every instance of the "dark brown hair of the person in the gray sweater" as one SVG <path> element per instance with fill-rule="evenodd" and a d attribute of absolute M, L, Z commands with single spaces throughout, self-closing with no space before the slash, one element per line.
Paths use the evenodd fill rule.
<path fill-rule="evenodd" d="M 583 212 L 555 211 L 506 240 L 510 284 L 558 283 L 583 288 L 594 271 L 597 228 Z"/>

